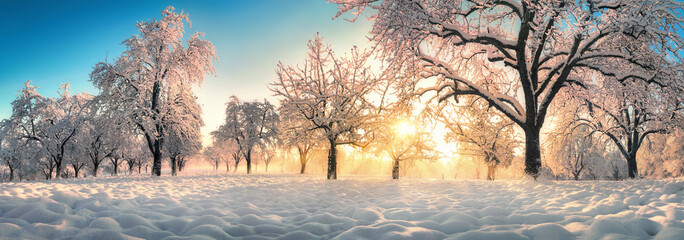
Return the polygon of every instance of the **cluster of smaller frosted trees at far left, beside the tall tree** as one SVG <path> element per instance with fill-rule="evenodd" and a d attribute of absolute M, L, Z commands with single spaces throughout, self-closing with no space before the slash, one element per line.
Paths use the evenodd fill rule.
<path fill-rule="evenodd" d="M 12 115 L 2 121 L 0 157 L 15 177 L 78 177 L 83 170 L 97 176 L 111 162 L 112 174 L 128 165 L 130 172 L 146 164 L 130 129 L 101 110 L 98 99 L 69 92 L 62 85 L 56 98 L 43 97 L 30 82 L 12 102 Z"/>

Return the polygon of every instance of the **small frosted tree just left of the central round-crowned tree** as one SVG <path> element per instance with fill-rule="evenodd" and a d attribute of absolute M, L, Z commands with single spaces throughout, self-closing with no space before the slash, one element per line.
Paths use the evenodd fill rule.
<path fill-rule="evenodd" d="M 257 145 L 262 148 L 276 141 L 279 121 L 275 107 L 268 101 L 243 102 L 232 96 L 226 103 L 226 121 L 213 134 L 219 141 L 237 144 L 239 153 L 247 163 L 247 173 L 252 170 L 252 154 Z M 234 155 L 235 167 L 240 156 Z"/>

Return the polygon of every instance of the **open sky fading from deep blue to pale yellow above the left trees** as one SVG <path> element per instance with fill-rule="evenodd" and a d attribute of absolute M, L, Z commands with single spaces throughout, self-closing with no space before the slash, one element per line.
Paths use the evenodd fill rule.
<path fill-rule="evenodd" d="M 44 96 L 57 96 L 63 83 L 71 92 L 97 94 L 89 74 L 97 62 L 114 61 L 135 24 L 159 19 L 173 6 L 190 16 L 186 35 L 205 33 L 216 47 L 216 74 L 197 89 L 203 108 L 205 143 L 224 121 L 231 95 L 245 101 L 276 102 L 267 85 L 276 79 L 279 61 L 299 64 L 306 43 L 316 33 L 338 53 L 369 45 L 371 23 L 332 17 L 337 6 L 326 0 L 249 1 L 0 1 L 0 119 L 11 115 L 10 103 L 28 80 Z"/>

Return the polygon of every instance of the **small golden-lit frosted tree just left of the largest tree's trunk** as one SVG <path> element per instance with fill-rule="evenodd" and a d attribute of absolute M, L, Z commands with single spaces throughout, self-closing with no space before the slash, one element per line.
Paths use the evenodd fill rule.
<path fill-rule="evenodd" d="M 437 119 L 447 127 L 447 142 L 459 144 L 461 155 L 481 159 L 487 166 L 487 180 L 496 178 L 496 169 L 513 160 L 518 145 L 514 124 L 479 97 L 467 97 L 462 104 L 444 103 Z"/>

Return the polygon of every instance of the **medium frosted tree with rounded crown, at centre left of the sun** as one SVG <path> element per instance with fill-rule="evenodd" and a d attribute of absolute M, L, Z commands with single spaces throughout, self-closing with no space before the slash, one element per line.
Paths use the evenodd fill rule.
<path fill-rule="evenodd" d="M 328 142 L 328 179 L 337 179 L 337 146 L 363 138 L 360 130 L 373 118 L 366 99 L 376 78 L 368 64 L 369 54 L 354 47 L 349 56 L 338 57 L 316 35 L 308 43 L 304 64 L 276 68 L 278 80 L 270 86 L 280 97 L 282 114 L 299 115 L 293 126 Z"/>

